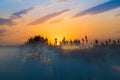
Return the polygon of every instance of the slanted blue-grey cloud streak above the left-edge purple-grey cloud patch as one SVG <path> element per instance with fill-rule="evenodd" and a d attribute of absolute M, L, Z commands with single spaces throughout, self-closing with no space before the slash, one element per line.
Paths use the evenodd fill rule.
<path fill-rule="evenodd" d="M 13 13 L 11 15 L 11 18 L 22 18 L 22 15 L 24 14 L 27 14 L 29 11 L 33 10 L 33 7 L 32 8 L 29 8 L 29 9 L 24 9 L 24 10 L 21 10 L 19 12 L 16 12 L 16 13 Z"/>

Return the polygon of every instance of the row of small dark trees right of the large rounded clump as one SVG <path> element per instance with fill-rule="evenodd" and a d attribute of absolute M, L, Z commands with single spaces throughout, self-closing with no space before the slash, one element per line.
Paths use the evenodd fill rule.
<path fill-rule="evenodd" d="M 57 38 L 55 39 L 55 42 L 57 43 Z M 81 40 L 79 39 L 75 39 L 75 40 L 70 40 L 67 41 L 66 38 L 64 37 L 63 40 L 60 42 L 60 45 L 85 45 L 85 44 L 90 44 L 90 41 L 88 40 L 88 37 L 85 36 L 84 38 L 82 38 Z M 105 41 L 99 41 L 99 40 L 94 40 L 94 42 L 92 43 L 92 45 L 94 47 L 115 47 L 115 46 L 120 46 L 120 39 L 118 40 L 112 40 L 112 39 L 108 39 Z"/>

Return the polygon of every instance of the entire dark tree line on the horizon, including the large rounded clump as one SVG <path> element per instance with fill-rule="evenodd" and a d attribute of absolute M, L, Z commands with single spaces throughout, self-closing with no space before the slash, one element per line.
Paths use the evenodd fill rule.
<path fill-rule="evenodd" d="M 31 37 L 28 39 L 28 41 L 25 43 L 25 45 L 37 45 L 37 44 L 46 44 L 48 45 L 48 39 L 44 38 L 40 35 Z M 58 40 L 57 38 L 55 38 L 55 43 L 54 46 L 58 46 Z M 88 37 L 85 36 L 84 38 L 82 38 L 81 40 L 79 39 L 75 39 L 75 40 L 66 40 L 66 38 L 64 37 L 63 40 L 61 42 L 59 42 L 59 45 L 85 45 L 85 44 L 89 44 L 89 40 Z M 99 40 L 95 40 L 92 45 L 94 47 L 106 47 L 106 46 L 120 46 L 120 39 L 118 40 L 112 40 L 112 39 L 108 39 L 104 42 L 101 42 Z"/>

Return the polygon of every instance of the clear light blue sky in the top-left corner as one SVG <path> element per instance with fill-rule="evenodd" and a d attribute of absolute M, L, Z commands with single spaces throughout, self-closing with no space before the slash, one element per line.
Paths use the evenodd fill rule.
<path fill-rule="evenodd" d="M 17 11 L 28 9 L 47 2 L 48 0 L 2 0 L 0 2 L 0 16 L 10 15 Z"/>

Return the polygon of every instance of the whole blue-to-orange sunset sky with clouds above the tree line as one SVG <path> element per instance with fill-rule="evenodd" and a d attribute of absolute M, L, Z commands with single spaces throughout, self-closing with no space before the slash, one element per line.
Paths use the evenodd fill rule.
<path fill-rule="evenodd" d="M 53 43 L 120 38 L 120 0 L 2 0 L 0 45 L 23 44 L 42 35 Z"/>

